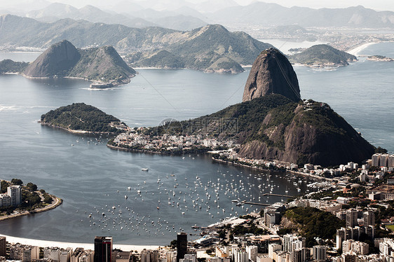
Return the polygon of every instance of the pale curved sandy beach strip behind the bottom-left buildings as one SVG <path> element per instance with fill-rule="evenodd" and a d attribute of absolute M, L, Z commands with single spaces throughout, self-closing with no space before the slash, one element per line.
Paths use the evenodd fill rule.
<path fill-rule="evenodd" d="M 22 237 L 11 237 L 9 235 L 1 235 L 1 234 L 0 236 L 6 237 L 6 241 L 10 243 L 29 244 L 38 247 L 60 247 L 60 248 L 72 247 L 72 249 L 76 249 L 76 247 L 83 247 L 84 249 L 92 249 L 92 250 L 94 249 L 94 245 L 93 245 L 94 237 L 92 237 L 92 243 L 88 244 L 88 243 L 55 242 L 48 240 L 34 240 L 34 239 L 22 238 Z M 138 252 L 140 252 L 143 249 L 158 249 L 158 247 L 159 246 L 155 246 L 155 245 L 114 244 L 114 249 L 121 249 L 123 251 L 137 250 Z"/>

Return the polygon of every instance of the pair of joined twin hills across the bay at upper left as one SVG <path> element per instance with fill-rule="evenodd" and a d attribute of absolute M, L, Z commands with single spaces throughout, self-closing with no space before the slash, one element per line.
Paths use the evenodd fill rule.
<path fill-rule="evenodd" d="M 112 46 L 81 50 L 63 40 L 50 46 L 22 74 L 31 78 L 79 77 L 116 85 L 130 82 L 136 73 Z"/>

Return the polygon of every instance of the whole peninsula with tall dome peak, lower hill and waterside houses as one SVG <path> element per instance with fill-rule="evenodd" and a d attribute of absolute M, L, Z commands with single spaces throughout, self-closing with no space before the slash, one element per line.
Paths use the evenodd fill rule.
<path fill-rule="evenodd" d="M 255 60 L 242 103 L 201 118 L 133 130 L 109 145 L 161 152 L 227 148 L 235 158 L 322 166 L 361 163 L 375 151 L 328 104 L 301 99 L 292 65 L 275 48 Z"/>

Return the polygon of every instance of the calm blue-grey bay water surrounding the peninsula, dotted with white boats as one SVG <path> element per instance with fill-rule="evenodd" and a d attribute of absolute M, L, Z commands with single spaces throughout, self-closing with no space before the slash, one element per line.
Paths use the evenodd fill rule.
<path fill-rule="evenodd" d="M 373 54 L 388 55 L 392 47 L 381 43 L 369 48 L 374 48 Z M 18 54 L 8 55 L 18 60 Z M 393 63 L 360 60 L 334 71 L 295 70 L 302 97 L 327 102 L 369 142 L 394 151 Z M 117 243 L 168 244 L 179 228 L 193 233 L 195 223 L 207 226 L 256 208 L 236 207 L 231 199 L 258 201 L 260 196 L 261 202 L 280 201 L 261 197 L 273 185 L 274 193 L 284 193 L 285 188 L 290 195 L 297 193 L 284 177 L 219 165 L 207 156 L 183 159 L 111 151 L 106 137 L 81 137 L 36 123 L 42 113 L 73 102 L 97 106 L 130 126 L 194 118 L 240 102 L 248 74 L 138 71 L 128 85 L 95 91 L 88 90 L 87 81 L 0 76 L 0 178 L 32 181 L 64 199 L 50 212 L 1 222 L 0 233 L 68 242 L 112 235 Z M 142 167 L 149 167 L 149 172 L 142 172 Z M 301 188 L 305 185 L 306 181 Z"/>

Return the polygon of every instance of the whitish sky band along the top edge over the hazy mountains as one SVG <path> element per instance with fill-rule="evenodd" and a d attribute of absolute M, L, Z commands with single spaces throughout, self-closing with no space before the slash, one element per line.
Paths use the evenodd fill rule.
<path fill-rule="evenodd" d="M 75 6 L 76 8 L 81 8 L 86 5 L 92 5 L 97 7 L 105 7 L 105 6 L 113 6 L 117 2 L 125 2 L 128 0 L 118 0 L 118 1 L 108 1 L 108 0 L 3 0 L 0 4 L 0 10 L 4 10 L 7 8 L 18 8 L 21 4 L 27 8 L 27 6 L 31 6 L 34 10 L 41 8 L 42 5 L 46 3 L 62 3 L 69 4 L 71 6 Z M 141 1 L 141 0 L 140 0 Z M 133 1 L 138 3 L 140 1 Z M 166 2 L 167 0 L 158 2 Z M 194 4 L 198 4 L 204 2 L 206 0 L 186 0 Z M 257 0 L 212 0 L 212 4 L 220 3 L 231 3 L 236 2 L 241 6 L 246 6 L 251 4 L 252 2 Z M 177 2 L 177 1 L 174 1 Z M 180 2 L 180 1 L 179 1 Z M 217 2 L 217 3 L 215 3 Z M 394 2 L 386 1 L 386 0 L 347 0 L 347 1 L 339 1 L 339 0 L 321 0 L 321 1 L 313 1 L 313 0 L 264 0 L 266 3 L 275 3 L 281 6 L 292 7 L 292 6 L 301 6 L 308 8 L 346 8 L 349 6 L 364 6 L 366 8 L 372 8 L 376 11 L 394 11 Z"/>

